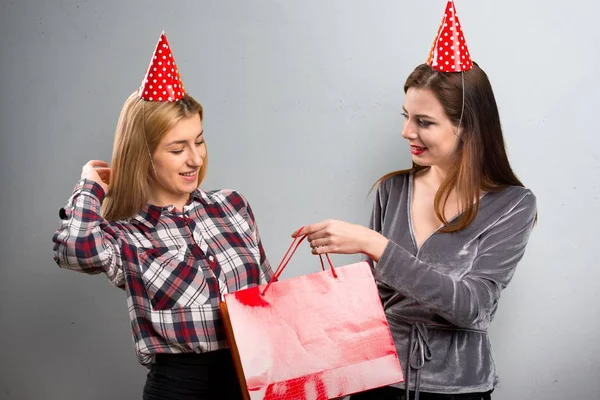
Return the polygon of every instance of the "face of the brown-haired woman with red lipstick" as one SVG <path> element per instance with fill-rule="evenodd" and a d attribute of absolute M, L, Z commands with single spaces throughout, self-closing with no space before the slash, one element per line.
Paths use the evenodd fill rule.
<path fill-rule="evenodd" d="M 403 109 L 402 137 L 410 145 L 413 162 L 447 170 L 457 159 L 460 140 L 442 104 L 428 89 L 409 88 Z"/>

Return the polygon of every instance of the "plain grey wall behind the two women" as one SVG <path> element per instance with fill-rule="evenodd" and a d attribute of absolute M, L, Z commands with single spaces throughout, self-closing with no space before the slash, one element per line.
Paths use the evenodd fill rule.
<path fill-rule="evenodd" d="M 248 197 L 276 264 L 302 224 L 366 222 L 370 185 L 409 165 L 402 85 L 445 1 L 0 4 L 0 398 L 58 400 L 141 397 L 124 293 L 60 270 L 51 236 L 81 166 L 110 160 L 161 30 L 206 110 L 205 188 Z M 457 9 L 540 212 L 491 331 L 494 398 L 598 399 L 600 5 Z M 318 268 L 305 250 L 285 276 Z"/>

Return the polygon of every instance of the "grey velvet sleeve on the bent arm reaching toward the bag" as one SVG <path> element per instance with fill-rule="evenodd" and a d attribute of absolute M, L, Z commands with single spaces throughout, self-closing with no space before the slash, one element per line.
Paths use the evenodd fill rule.
<path fill-rule="evenodd" d="M 377 263 L 375 277 L 457 326 L 489 320 L 525 254 L 536 213 L 536 198 L 527 191 L 482 235 L 472 268 L 462 277 L 437 271 L 393 241 Z"/>

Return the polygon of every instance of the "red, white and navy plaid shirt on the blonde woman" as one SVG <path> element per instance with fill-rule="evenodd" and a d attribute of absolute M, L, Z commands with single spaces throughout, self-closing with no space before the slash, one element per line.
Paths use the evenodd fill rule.
<path fill-rule="evenodd" d="M 104 190 L 82 179 L 54 234 L 62 268 L 104 273 L 127 292 L 136 354 L 208 352 L 227 347 L 222 293 L 272 276 L 250 205 L 231 190 L 196 190 L 183 213 L 147 205 L 135 217 L 100 215 Z"/>

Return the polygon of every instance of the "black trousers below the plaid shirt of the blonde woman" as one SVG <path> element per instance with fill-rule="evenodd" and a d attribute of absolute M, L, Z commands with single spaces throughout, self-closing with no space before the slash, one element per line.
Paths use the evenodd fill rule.
<path fill-rule="evenodd" d="M 157 354 L 143 400 L 242 400 L 229 350 Z"/>

